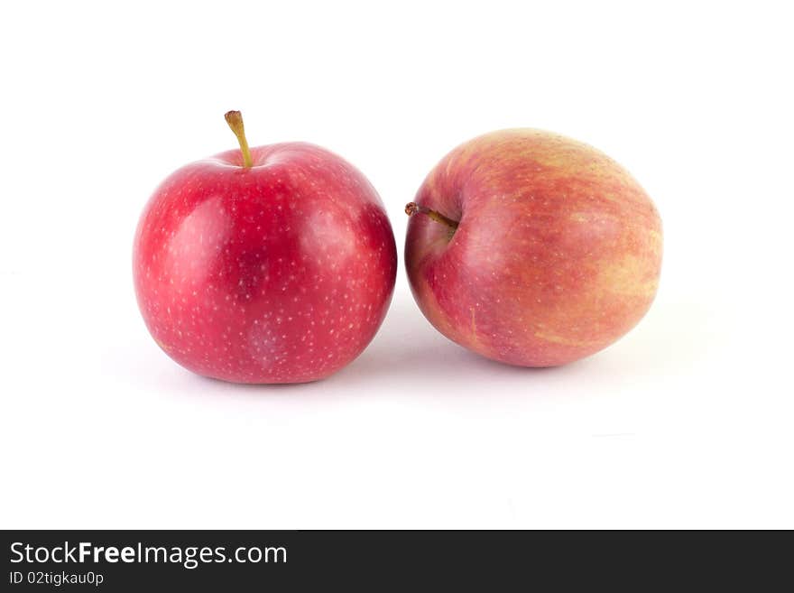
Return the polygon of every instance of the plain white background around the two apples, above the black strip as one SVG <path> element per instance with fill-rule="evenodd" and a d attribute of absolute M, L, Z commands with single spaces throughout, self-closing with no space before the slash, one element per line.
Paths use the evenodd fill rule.
<path fill-rule="evenodd" d="M 4 3 L 0 525 L 794 527 L 789 3 Z M 191 375 L 134 301 L 180 165 L 305 140 L 380 191 L 401 252 L 372 345 L 287 387 Z M 441 337 L 404 204 L 456 144 L 594 144 L 665 230 L 603 353 L 501 366 Z"/>

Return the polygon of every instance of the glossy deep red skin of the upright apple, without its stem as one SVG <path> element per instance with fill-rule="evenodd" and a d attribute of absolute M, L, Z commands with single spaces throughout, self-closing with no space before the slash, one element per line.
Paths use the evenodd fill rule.
<path fill-rule="evenodd" d="M 181 366 L 235 383 L 303 383 L 374 338 L 392 299 L 394 236 L 364 175 L 319 146 L 272 144 L 162 182 L 134 238 L 152 337 Z"/>

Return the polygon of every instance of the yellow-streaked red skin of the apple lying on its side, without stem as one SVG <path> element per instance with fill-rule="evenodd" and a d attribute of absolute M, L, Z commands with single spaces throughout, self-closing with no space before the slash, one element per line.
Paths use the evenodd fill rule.
<path fill-rule="evenodd" d="M 661 220 L 623 168 L 558 134 L 512 129 L 449 153 L 416 203 L 405 264 L 447 338 L 518 366 L 558 366 L 612 344 L 651 306 Z"/>

